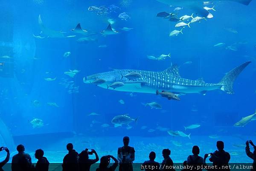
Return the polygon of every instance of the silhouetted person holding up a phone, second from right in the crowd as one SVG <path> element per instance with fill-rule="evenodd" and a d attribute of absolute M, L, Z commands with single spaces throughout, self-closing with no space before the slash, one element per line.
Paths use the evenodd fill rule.
<path fill-rule="evenodd" d="M 212 165 L 216 168 L 221 169 L 207 169 L 207 170 L 215 170 L 215 171 L 230 171 L 228 162 L 230 161 L 230 154 L 226 151 L 224 151 L 224 142 L 223 141 L 217 141 L 217 148 L 218 150 L 214 153 L 211 153 L 211 157 L 209 158 L 210 162 L 212 162 Z M 204 162 L 205 159 L 208 157 L 208 154 L 204 155 Z"/>

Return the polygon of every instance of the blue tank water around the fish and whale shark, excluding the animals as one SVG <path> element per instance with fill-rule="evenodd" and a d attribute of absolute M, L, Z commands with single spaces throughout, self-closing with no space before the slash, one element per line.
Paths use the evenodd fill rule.
<path fill-rule="evenodd" d="M 107 14 L 88 10 L 90 6 L 111 5 L 118 9 Z M 256 1 L 252 0 L 249 6 L 234 2 L 215 3 L 213 18 L 191 23 L 191 28 L 183 29 L 183 35 L 169 37 L 176 23 L 156 15 L 173 12 L 175 7 L 157 0 L 1 2 L 0 56 L 8 55 L 11 59 L 0 58 L 0 62 L 14 65 L 8 68 L 8 72 L 13 72 L 12 77 L 0 77 L 0 119 L 9 129 L 1 133 L 13 138 L 15 145 L 23 143 L 29 153 L 33 154 L 36 148 L 44 149 L 50 162 L 62 161 L 68 142 L 73 142 L 77 151 L 95 148 L 100 156 L 116 155 L 117 148 L 122 146 L 122 136 L 131 136 L 136 162 L 147 159 L 150 151 L 156 151 L 157 161 L 161 161 L 163 148 L 172 150 L 175 162 L 183 162 L 191 153 L 192 145 L 199 145 L 203 156 L 215 151 L 217 140 L 223 140 L 226 151 L 233 153 L 231 162 L 250 162 L 244 147 L 234 145 L 244 144 L 248 139 L 255 140 L 255 121 L 244 127 L 233 125 L 242 117 L 253 114 L 256 108 Z M 118 16 L 122 12 L 131 18 L 121 20 Z M 178 17 L 192 13 L 184 7 Z M 47 28 L 76 37 L 47 38 L 47 35 L 40 35 L 39 14 Z M 93 36 L 96 41 L 79 43 L 77 39 L 83 36 L 70 31 L 81 23 L 83 29 L 99 33 L 108 26 L 108 19 L 115 21 L 112 27 L 119 34 L 96 35 Z M 133 29 L 126 32 L 120 29 L 122 27 Z M 33 34 L 45 38 L 35 38 Z M 10 46 L 7 46 L 8 42 Z M 214 47 L 217 43 L 236 46 L 236 50 Z M 71 55 L 64 58 L 65 52 L 71 52 Z M 171 58 L 163 61 L 147 58 L 147 55 L 169 53 Z M 192 63 L 184 64 L 187 61 Z M 180 96 L 181 101 L 171 101 L 154 94 L 119 92 L 83 83 L 85 76 L 111 71 L 110 68 L 162 71 L 171 64 L 180 66 L 183 78 L 204 78 L 206 82 L 218 83 L 226 72 L 246 61 L 252 63 L 238 76 L 232 95 L 214 90 L 205 96 L 188 94 Z M 71 78 L 64 74 L 69 70 L 80 72 Z M 54 81 L 45 80 L 55 77 Z M 79 90 L 69 92 L 74 87 Z M 124 104 L 119 102 L 121 99 Z M 150 109 L 141 104 L 153 101 L 160 103 L 163 109 Z M 58 107 L 47 104 L 49 102 Z M 88 116 L 93 112 L 99 116 Z M 137 125 L 133 122 L 131 129 L 126 126 L 114 128 L 111 120 L 120 114 L 129 114 L 134 119 L 139 117 Z M 44 125 L 33 128 L 32 119 L 41 119 Z M 110 126 L 102 127 L 102 124 Z M 185 132 L 183 126 L 191 124 L 201 126 Z M 147 128 L 141 129 L 143 126 Z M 191 139 L 173 138 L 166 130 L 157 127 L 191 133 Z M 155 131 L 148 132 L 150 129 Z M 47 137 L 47 141 L 38 139 L 41 135 Z M 217 138 L 209 138 L 210 135 Z M 177 141 L 181 147 L 172 141 Z M 0 138 L 0 142 L 4 144 L 6 141 Z"/>

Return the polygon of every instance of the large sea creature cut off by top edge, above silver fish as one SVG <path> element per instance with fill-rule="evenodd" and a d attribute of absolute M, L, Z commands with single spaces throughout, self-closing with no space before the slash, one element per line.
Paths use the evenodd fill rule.
<path fill-rule="evenodd" d="M 210 14 L 206 9 L 204 9 L 205 0 L 157 0 L 160 3 L 164 3 L 172 6 L 183 6 L 185 8 L 191 9 L 193 12 L 200 14 L 201 17 L 212 18 L 212 14 Z M 211 2 L 237 2 L 244 5 L 249 5 L 252 0 L 211 0 Z"/>

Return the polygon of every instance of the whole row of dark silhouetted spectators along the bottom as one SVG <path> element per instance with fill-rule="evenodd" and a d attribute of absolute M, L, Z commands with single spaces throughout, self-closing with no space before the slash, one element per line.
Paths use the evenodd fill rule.
<path fill-rule="evenodd" d="M 123 146 L 117 150 L 117 159 L 111 155 L 103 156 L 100 159 L 99 167 L 96 171 L 115 171 L 119 165 L 119 171 L 133 171 L 133 162 L 135 160 L 135 150 L 129 146 L 130 139 L 128 136 L 123 138 Z M 256 146 L 253 142 L 246 141 L 245 152 L 248 157 L 253 159 L 253 167 L 251 171 L 256 171 Z M 254 151 L 250 151 L 250 146 L 254 148 Z M 212 166 L 205 167 L 207 171 L 230 171 L 229 161 L 230 154 L 224 151 L 224 142 L 217 141 L 217 149 L 213 153 L 205 154 L 204 158 L 200 157 L 200 149 L 198 146 L 193 146 L 192 155 L 187 157 L 187 160 L 183 162 L 184 167 L 182 171 L 202 171 L 203 166 L 208 166 L 206 159 L 209 157 L 209 161 L 212 162 Z M 0 151 L 6 151 L 6 158 L 3 162 L 0 162 L 0 171 L 3 171 L 3 166 L 9 162 L 10 151 L 6 147 L 0 147 Z M 67 144 L 68 154 L 65 155 L 62 164 L 62 171 L 90 171 L 91 165 L 99 161 L 99 156 L 94 149 L 85 149 L 79 154 L 74 150 L 73 144 Z M 25 147 L 23 145 L 17 146 L 17 154 L 12 157 L 12 171 L 49 171 L 49 161 L 44 157 L 44 151 L 38 149 L 35 151 L 35 158 L 38 162 L 33 165 L 32 159 L 29 154 L 25 153 Z M 95 159 L 89 159 L 89 155 L 95 155 Z M 149 160 L 146 160 L 141 165 L 141 170 L 145 171 L 175 171 L 172 167 L 174 162 L 171 157 L 171 150 L 163 149 L 162 156 L 163 162 L 161 165 L 154 161 L 156 153 L 151 151 L 149 154 Z M 110 165 L 110 161 L 113 159 L 113 164 Z M 190 168 L 189 168 L 190 167 Z"/>

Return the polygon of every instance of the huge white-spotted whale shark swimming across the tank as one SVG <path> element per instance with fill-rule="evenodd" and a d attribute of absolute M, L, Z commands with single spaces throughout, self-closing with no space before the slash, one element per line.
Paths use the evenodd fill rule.
<path fill-rule="evenodd" d="M 137 92 L 137 93 L 156 93 L 157 90 L 169 91 L 177 95 L 185 95 L 188 93 L 201 93 L 205 95 L 207 91 L 222 90 L 228 94 L 233 94 L 233 83 L 237 76 L 245 67 L 251 62 L 245 62 L 239 65 L 226 75 L 218 83 L 205 83 L 202 79 L 190 80 L 181 78 L 177 65 L 172 65 L 162 72 L 143 71 L 123 69 L 109 72 L 102 72 L 98 74 L 89 75 L 83 78 L 86 84 L 93 83 L 96 79 L 102 79 L 102 84 L 97 86 L 116 91 Z M 124 75 L 131 72 L 137 72 L 141 77 L 128 79 Z M 113 82 L 124 83 L 121 87 L 111 88 Z"/>

